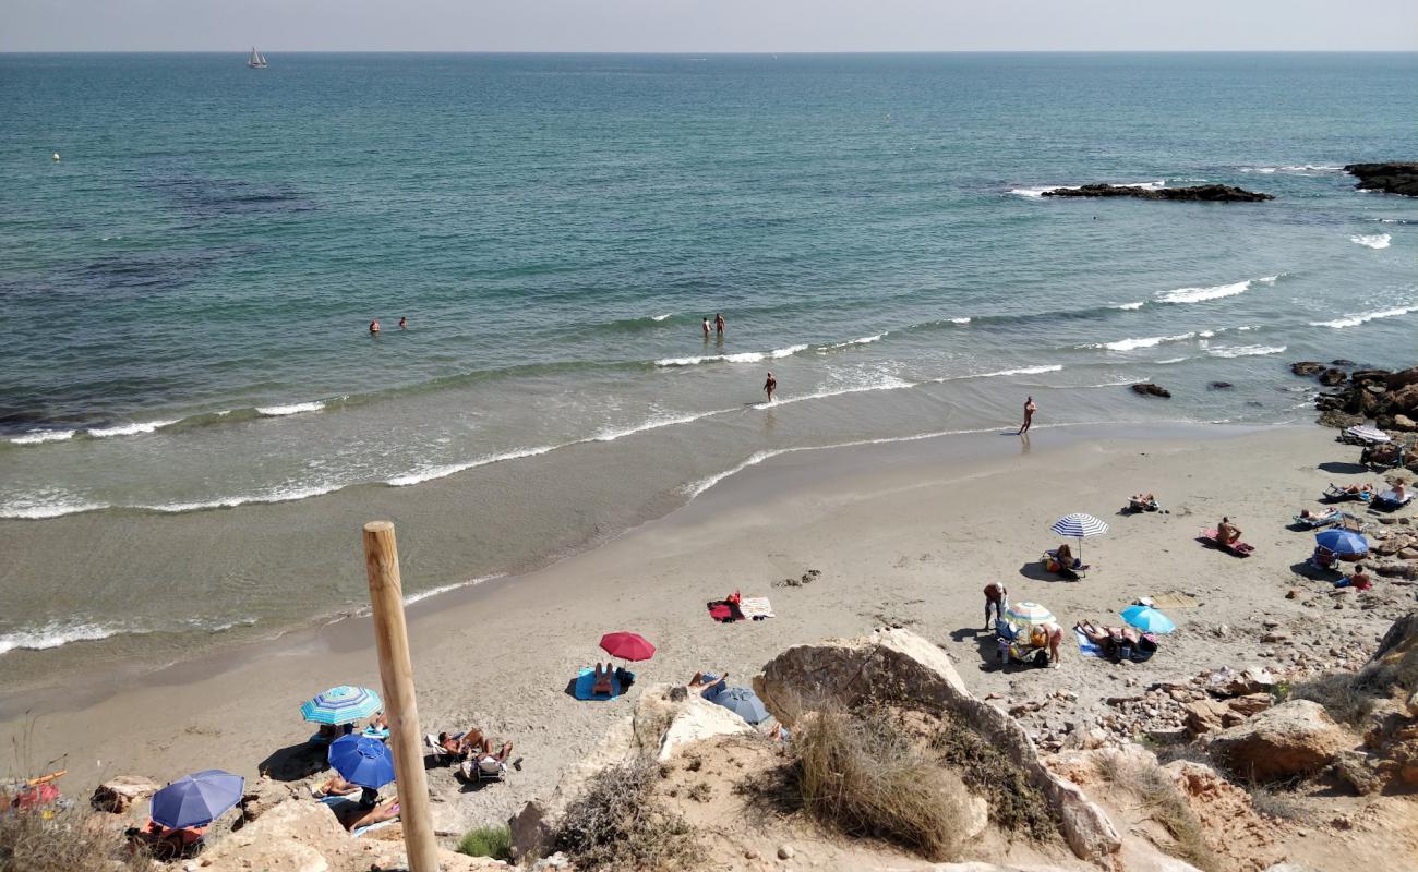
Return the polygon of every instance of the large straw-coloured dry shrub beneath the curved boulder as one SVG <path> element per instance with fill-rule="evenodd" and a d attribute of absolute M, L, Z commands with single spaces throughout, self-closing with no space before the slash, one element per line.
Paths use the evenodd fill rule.
<path fill-rule="evenodd" d="M 966 828 L 966 791 L 881 712 L 821 710 L 791 744 L 804 807 L 852 837 L 876 837 L 950 859 Z"/>

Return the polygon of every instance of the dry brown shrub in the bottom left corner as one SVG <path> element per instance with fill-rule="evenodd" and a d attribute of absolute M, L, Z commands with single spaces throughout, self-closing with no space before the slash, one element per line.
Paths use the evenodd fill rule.
<path fill-rule="evenodd" d="M 75 872 L 77 869 L 147 869 L 147 858 L 129 854 L 122 834 L 84 807 L 0 814 L 0 872 Z"/>

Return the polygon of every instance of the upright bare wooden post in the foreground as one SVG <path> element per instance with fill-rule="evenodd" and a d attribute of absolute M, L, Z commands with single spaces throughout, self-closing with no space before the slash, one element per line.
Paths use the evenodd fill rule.
<path fill-rule="evenodd" d="M 372 520 L 364 525 L 364 566 L 369 570 L 369 598 L 374 607 L 379 675 L 384 682 L 384 715 L 389 717 L 390 749 L 394 751 L 398 817 L 404 824 L 408 872 L 438 872 L 438 845 L 434 842 L 434 821 L 428 808 L 428 776 L 424 773 L 418 702 L 414 698 L 414 665 L 408 658 L 408 628 L 404 625 L 398 546 L 390 522 Z"/>

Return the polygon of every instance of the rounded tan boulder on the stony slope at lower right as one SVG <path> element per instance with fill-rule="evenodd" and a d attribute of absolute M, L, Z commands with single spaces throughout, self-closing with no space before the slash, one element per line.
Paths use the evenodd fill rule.
<path fill-rule="evenodd" d="M 1280 703 L 1208 742 L 1211 756 L 1242 777 L 1275 781 L 1312 776 L 1354 743 L 1324 706 L 1309 699 Z"/>

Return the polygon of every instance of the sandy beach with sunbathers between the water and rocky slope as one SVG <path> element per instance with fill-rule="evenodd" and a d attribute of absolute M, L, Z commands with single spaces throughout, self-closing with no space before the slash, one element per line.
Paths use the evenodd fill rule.
<path fill-rule="evenodd" d="M 576 702 L 577 666 L 596 661 L 603 632 L 632 630 L 658 645 L 641 685 L 683 681 L 700 668 L 749 683 L 797 642 L 905 625 L 937 642 L 977 695 L 1011 700 L 1075 691 L 1081 715 L 1122 682 L 1184 679 L 1256 659 L 1259 621 L 1314 625 L 1289 588 L 1327 590 L 1293 573 L 1310 537 L 1286 529 L 1330 481 L 1360 481 L 1333 431 L 1316 427 L 1178 428 L 1167 438 L 1115 430 L 1038 430 L 1018 438 L 946 437 L 801 451 L 730 476 L 691 505 L 545 570 L 431 597 L 411 610 L 420 715 L 425 732 L 482 730 L 512 740 L 520 771 L 464 791 L 431 774 L 441 832 L 501 821 L 547 795 L 631 699 Z M 947 442 L 949 440 L 949 442 Z M 949 452 L 947 452 L 949 448 Z M 943 459 L 949 455 L 949 459 Z M 1349 472 L 1353 469 L 1353 472 Z M 1127 495 L 1153 491 L 1170 513 L 1123 516 Z M 1085 580 L 1045 580 L 1048 525 L 1089 512 L 1112 525 L 1088 540 Z M 1238 560 L 1195 542 L 1229 515 L 1256 553 Z M 352 530 L 350 561 L 360 560 Z M 781 586 L 808 570 L 805 586 Z M 1059 671 L 1001 672 L 981 645 L 981 587 L 1049 607 L 1062 624 L 1116 620 L 1137 597 L 1190 593 L 1178 632 L 1146 665 L 1083 658 L 1072 641 Z M 777 617 L 719 625 L 705 603 L 740 590 L 771 597 Z M 1378 593 L 1411 603 L 1387 580 Z M 1326 611 L 1326 632 L 1371 645 L 1401 605 Z M 1115 621 L 1116 622 L 1116 621 Z M 1217 628 L 1221 628 L 1218 632 Z M 174 778 L 206 767 L 255 777 L 262 760 L 311 733 L 299 703 L 336 683 L 377 686 L 369 624 L 319 632 L 160 669 L 95 678 L 109 685 L 51 688 L 28 713 L 0 725 L 26 768 L 67 767 L 64 788 L 85 795 L 105 776 Z"/>

